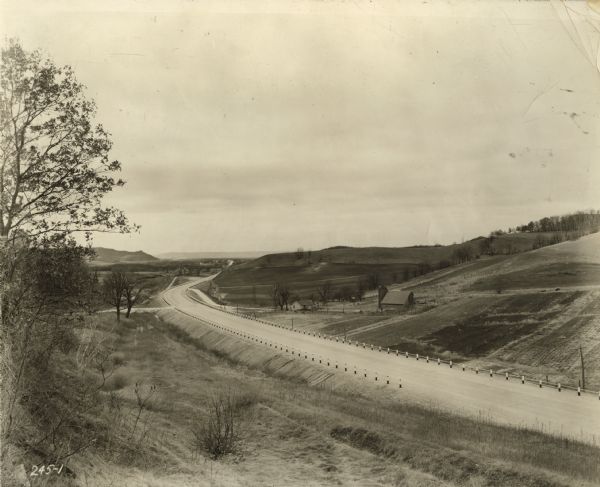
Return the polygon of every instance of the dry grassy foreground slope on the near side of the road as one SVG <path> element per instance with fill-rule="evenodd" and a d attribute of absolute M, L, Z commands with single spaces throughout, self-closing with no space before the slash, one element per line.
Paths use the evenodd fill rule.
<path fill-rule="evenodd" d="M 158 392 L 143 416 L 148 434 L 139 448 L 118 450 L 111 462 L 93 449 L 74 458 L 69 467 L 77 484 L 553 487 L 600 481 L 596 447 L 403 404 L 381 387 L 323 380 L 306 364 L 290 367 L 287 357 L 261 355 L 262 347 L 211 331 L 193 338 L 151 314 L 120 325 L 112 314 L 97 320 L 121 364 L 106 394 L 133 408 L 136 382 Z M 311 387 L 285 378 L 293 370 L 321 382 Z M 213 461 L 193 450 L 190 425 L 210 397 L 228 391 L 244 398 L 243 447 Z"/>

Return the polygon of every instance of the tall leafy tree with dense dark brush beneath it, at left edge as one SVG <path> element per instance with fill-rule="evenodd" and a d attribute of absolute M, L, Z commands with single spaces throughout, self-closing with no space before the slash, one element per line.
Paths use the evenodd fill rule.
<path fill-rule="evenodd" d="M 74 234 L 82 232 L 89 243 L 93 232 L 126 232 L 134 226 L 121 211 L 102 206 L 103 197 L 123 184 L 113 177 L 120 165 L 109 159 L 109 136 L 94 125 L 94 103 L 85 98 L 71 68 L 56 67 L 14 40 L 2 49 L 1 64 L 4 475 L 17 458 L 8 455 L 11 448 L 22 452 L 21 463 L 31 452 L 54 461 L 97 439 L 78 425 L 87 424 L 93 408 L 102 409 L 96 393 L 106 379 L 109 352 L 80 343 L 75 332 L 96 307 L 97 279 L 85 263 L 89 249 L 77 244 Z M 98 383 L 88 380 L 93 368 L 100 371 Z"/>

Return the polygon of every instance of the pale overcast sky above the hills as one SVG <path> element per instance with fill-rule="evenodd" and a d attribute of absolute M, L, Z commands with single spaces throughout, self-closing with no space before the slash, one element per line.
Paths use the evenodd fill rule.
<path fill-rule="evenodd" d="M 112 133 L 128 183 L 109 203 L 142 229 L 97 245 L 452 243 L 600 208 L 585 2 L 2 5 Z"/>

